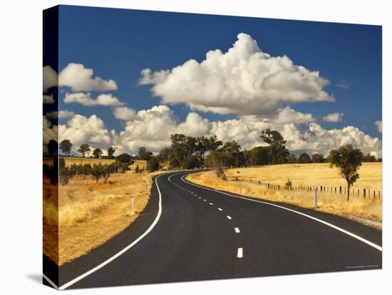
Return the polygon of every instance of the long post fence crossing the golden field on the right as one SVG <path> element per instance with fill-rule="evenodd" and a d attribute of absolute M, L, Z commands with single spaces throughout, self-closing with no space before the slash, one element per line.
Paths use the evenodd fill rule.
<path fill-rule="evenodd" d="M 286 185 L 276 185 L 269 182 L 263 182 L 261 180 L 243 180 L 243 179 L 236 178 L 234 181 L 251 183 L 252 185 L 262 185 L 268 190 L 275 190 L 275 191 L 314 192 L 314 190 L 317 188 L 318 192 L 321 194 L 328 193 L 331 195 L 347 195 L 347 187 L 342 187 L 342 186 L 330 187 L 326 185 L 319 185 L 316 187 L 311 187 L 311 186 L 293 187 L 293 186 L 286 186 Z M 376 190 L 367 190 L 364 188 L 359 189 L 356 187 L 352 187 L 350 189 L 350 197 L 363 197 L 363 199 L 366 200 L 381 200 L 382 193 L 379 190 L 376 191 Z"/>

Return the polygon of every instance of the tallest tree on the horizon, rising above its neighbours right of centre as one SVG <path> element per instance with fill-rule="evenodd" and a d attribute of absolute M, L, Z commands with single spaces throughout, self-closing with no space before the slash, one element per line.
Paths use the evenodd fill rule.
<path fill-rule="evenodd" d="M 286 140 L 284 140 L 283 136 L 278 131 L 267 128 L 262 130 L 262 135 L 260 137 L 264 140 L 264 143 L 269 145 L 269 162 L 271 164 L 282 164 L 287 162 L 290 153 L 286 148 Z"/>

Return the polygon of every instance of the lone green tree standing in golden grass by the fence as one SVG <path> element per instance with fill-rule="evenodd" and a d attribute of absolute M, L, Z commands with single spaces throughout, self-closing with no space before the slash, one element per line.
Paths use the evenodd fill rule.
<path fill-rule="evenodd" d="M 330 167 L 337 167 L 339 174 L 347 182 L 347 200 L 350 200 L 350 187 L 359 179 L 357 170 L 362 165 L 363 153 L 352 145 L 343 145 L 329 152 Z"/>

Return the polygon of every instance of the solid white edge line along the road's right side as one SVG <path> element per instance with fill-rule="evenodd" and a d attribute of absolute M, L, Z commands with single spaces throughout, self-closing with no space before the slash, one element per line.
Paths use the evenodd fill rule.
<path fill-rule="evenodd" d="M 188 173 L 188 174 L 189 174 L 189 173 Z M 181 177 L 181 180 L 182 180 L 183 182 L 187 183 L 188 185 L 194 185 L 195 187 L 202 187 L 201 185 L 195 185 L 195 184 L 193 184 L 192 182 L 189 182 L 189 181 L 187 181 L 187 180 L 184 180 L 184 177 L 185 177 L 185 176 L 186 176 L 186 175 L 184 175 L 184 176 Z M 325 224 L 325 225 L 328 226 L 328 227 L 332 227 L 333 229 L 339 230 L 339 232 L 343 232 L 344 234 L 348 234 L 349 236 L 354 237 L 354 239 L 359 239 L 359 241 L 361 241 L 361 242 L 363 242 L 363 243 L 365 243 L 365 244 L 368 244 L 369 246 L 371 246 L 371 247 L 377 249 L 378 251 L 381 251 L 381 252 L 383 251 L 383 248 L 380 247 L 380 246 L 378 246 L 378 244 L 374 244 L 373 242 L 370 242 L 370 241 L 368 241 L 367 239 L 363 239 L 363 237 L 359 237 L 358 235 L 353 234 L 352 232 L 349 232 L 349 231 L 347 231 L 346 229 L 342 229 L 341 227 L 336 227 L 336 225 L 334 225 L 334 224 L 331 224 L 331 223 L 329 223 L 329 222 L 325 222 L 324 220 L 318 219 L 318 218 L 313 217 L 313 216 L 310 216 L 310 215 L 308 215 L 308 214 L 304 214 L 304 213 L 302 213 L 302 212 L 299 212 L 299 211 L 296 211 L 296 210 L 293 210 L 293 209 L 289 209 L 289 208 L 287 208 L 287 207 L 283 207 L 283 206 L 280 206 L 280 205 L 275 205 L 275 204 L 272 204 L 272 203 L 269 203 L 269 202 L 263 202 L 263 201 L 259 201 L 259 200 L 252 200 L 252 199 L 248 199 L 247 197 L 239 197 L 239 196 L 236 196 L 236 195 L 228 194 L 227 192 L 221 192 L 221 191 L 219 191 L 219 190 L 212 190 L 212 189 L 210 189 L 210 188 L 208 188 L 208 187 L 202 187 L 202 188 L 204 188 L 205 190 L 211 190 L 211 191 L 214 191 L 214 192 L 219 192 L 219 193 L 222 194 L 222 195 L 228 195 L 228 196 L 230 196 L 230 197 L 237 197 L 238 199 L 244 199 L 244 200 L 248 200 L 248 201 L 250 201 L 250 202 L 262 203 L 262 204 L 265 204 L 265 205 L 274 206 L 274 207 L 278 207 L 278 208 L 280 208 L 280 209 L 284 209 L 284 210 L 287 210 L 287 211 L 290 211 L 290 212 L 294 212 L 294 213 L 299 214 L 299 215 L 302 215 L 302 216 L 304 216 L 304 217 L 308 217 L 308 218 L 310 218 L 310 219 L 313 219 L 313 220 L 315 220 L 316 222 L 320 222 L 320 223 L 322 223 L 322 224 Z"/>

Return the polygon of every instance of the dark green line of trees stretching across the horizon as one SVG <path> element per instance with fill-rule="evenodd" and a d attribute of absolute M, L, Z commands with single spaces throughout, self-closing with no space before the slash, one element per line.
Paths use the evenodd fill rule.
<path fill-rule="evenodd" d="M 148 172 L 163 169 L 164 165 L 168 165 L 170 170 L 210 167 L 215 170 L 217 177 L 226 180 L 225 169 L 232 167 L 329 162 L 331 167 L 339 168 L 341 176 L 344 177 L 348 183 L 348 188 L 350 188 L 359 177 L 357 170 L 362 162 L 381 161 L 381 159 L 376 159 L 374 155 L 363 155 L 361 150 L 354 149 L 351 145 L 344 145 L 338 150 L 331 150 L 327 157 L 318 152 L 313 155 L 303 152 L 296 157 L 286 148 L 287 141 L 284 140 L 279 131 L 267 128 L 262 130 L 260 138 L 267 144 L 266 146 L 242 150 L 239 143 L 234 140 L 223 143 L 217 139 L 216 135 L 195 138 L 183 134 L 172 134 L 170 135 L 170 147 L 164 148 L 158 155 L 154 155 L 145 147 L 140 147 L 136 157 L 127 153 L 115 156 L 115 149 L 110 147 L 107 151 L 108 155 L 103 156 L 103 150 L 96 148 L 92 152 L 92 157 L 115 159 L 115 162 L 110 165 L 98 164 L 91 166 L 85 164 L 66 167 L 65 160 L 58 161 L 58 165 L 53 160 L 52 167 L 44 166 L 44 173 L 51 174 L 52 172 L 53 174 L 51 170 L 58 169 L 59 180 L 64 185 L 68 183 L 71 177 L 81 175 L 83 177 L 91 175 L 96 182 L 100 178 L 107 182 L 110 174 L 129 170 L 128 166 L 133 164 L 133 159 L 138 158 L 147 162 L 146 170 Z M 71 154 L 72 147 L 70 140 L 63 140 L 59 145 L 56 140 L 50 140 L 47 145 L 49 155 L 57 155 L 58 148 L 60 148 L 63 154 L 68 156 Z M 91 147 L 88 143 L 84 143 L 80 145 L 78 152 L 81 153 L 82 157 L 90 156 Z M 140 167 L 136 167 L 135 172 L 142 172 L 142 170 Z"/>

